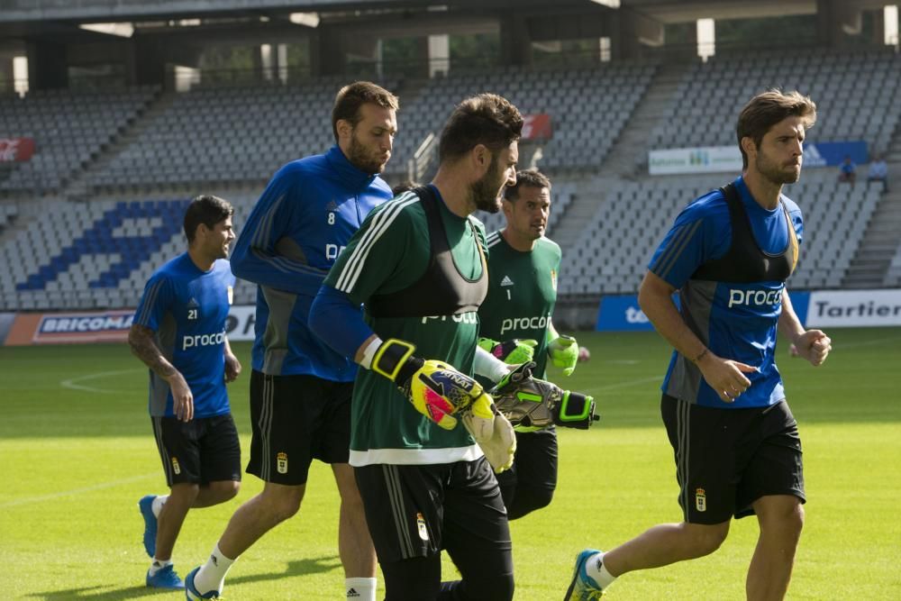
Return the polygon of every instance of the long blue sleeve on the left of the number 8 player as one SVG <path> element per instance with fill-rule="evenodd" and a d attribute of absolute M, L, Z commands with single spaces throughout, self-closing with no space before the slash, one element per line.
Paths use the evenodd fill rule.
<path fill-rule="evenodd" d="M 296 207 L 303 203 L 294 170 L 282 168 L 259 197 L 232 250 L 232 273 L 260 286 L 294 294 L 310 294 L 323 282 L 325 269 L 289 259 L 277 250 L 290 232 L 292 220 L 304 219 Z"/>

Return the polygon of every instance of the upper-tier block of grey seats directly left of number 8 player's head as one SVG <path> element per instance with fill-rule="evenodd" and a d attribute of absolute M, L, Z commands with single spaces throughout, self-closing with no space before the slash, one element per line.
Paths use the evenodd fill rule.
<path fill-rule="evenodd" d="M 149 186 L 265 181 L 288 161 L 334 144 L 332 103 L 346 83 L 325 78 L 178 94 L 89 183 L 133 193 Z"/>

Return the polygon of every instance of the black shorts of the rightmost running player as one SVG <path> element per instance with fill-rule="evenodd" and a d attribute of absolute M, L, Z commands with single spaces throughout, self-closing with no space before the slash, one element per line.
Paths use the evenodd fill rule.
<path fill-rule="evenodd" d="M 720 524 L 754 514 L 761 496 L 805 502 L 801 438 L 788 404 L 718 409 L 663 395 L 685 521 Z"/>

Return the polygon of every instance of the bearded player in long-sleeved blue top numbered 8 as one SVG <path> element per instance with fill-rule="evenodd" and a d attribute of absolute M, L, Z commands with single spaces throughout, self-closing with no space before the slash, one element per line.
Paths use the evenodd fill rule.
<path fill-rule="evenodd" d="M 344 592 L 375 600 L 376 554 L 348 465 L 356 364 L 310 331 L 307 314 L 344 245 L 392 196 L 378 174 L 391 157 L 396 110 L 396 96 L 375 84 L 341 88 L 332 108 L 336 145 L 280 168 L 235 243 L 234 274 L 258 285 L 247 471 L 265 485 L 232 516 L 210 559 L 187 575 L 188 599 L 219 596 L 234 560 L 296 514 L 318 459 L 332 465 L 341 493 Z"/>

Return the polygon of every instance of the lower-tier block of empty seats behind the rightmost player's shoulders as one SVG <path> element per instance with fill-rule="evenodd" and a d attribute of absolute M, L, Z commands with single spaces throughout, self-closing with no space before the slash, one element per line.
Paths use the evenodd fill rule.
<path fill-rule="evenodd" d="M 657 178 L 612 190 L 576 243 L 564 251 L 560 294 L 635 292 L 676 215 L 725 181 L 716 176 Z M 840 287 L 876 208 L 880 186 L 834 182 L 832 169 L 808 169 L 799 183 L 785 190 L 805 218 L 800 259 L 788 280 L 789 289 Z"/>

